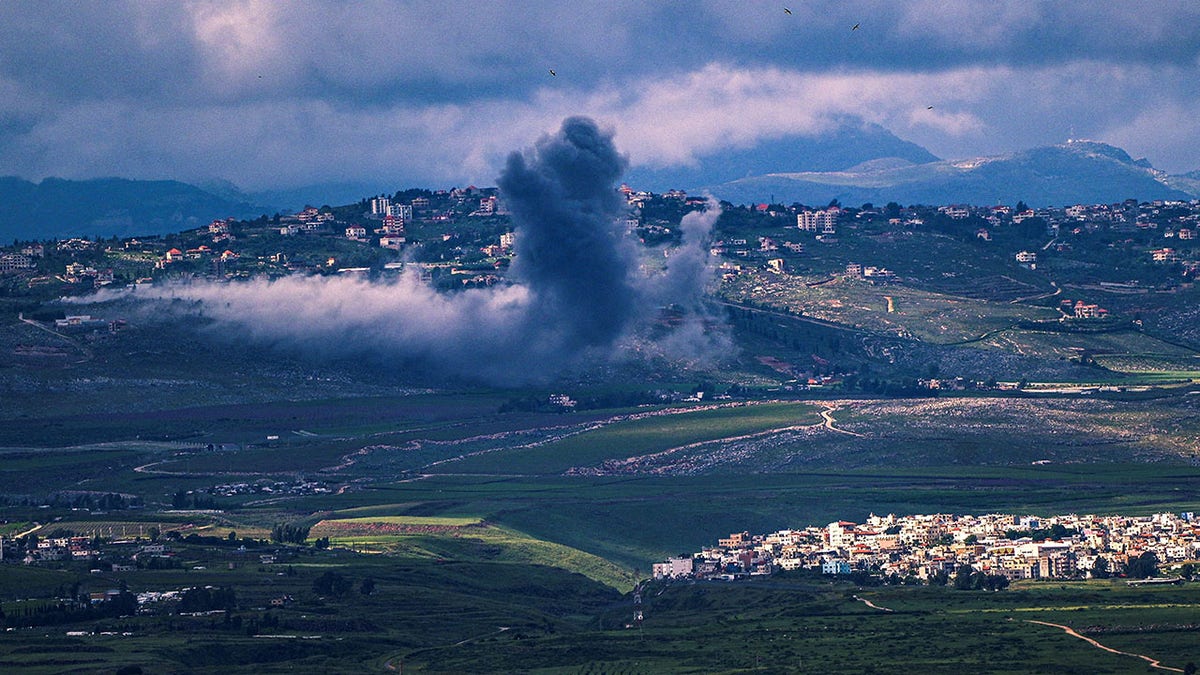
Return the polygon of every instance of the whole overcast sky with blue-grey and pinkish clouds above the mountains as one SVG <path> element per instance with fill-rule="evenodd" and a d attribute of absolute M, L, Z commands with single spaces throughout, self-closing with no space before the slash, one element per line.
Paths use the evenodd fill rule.
<path fill-rule="evenodd" d="M 494 185 L 571 114 L 653 167 L 851 115 L 1193 171 L 1200 2 L 0 2 L 0 174 Z"/>

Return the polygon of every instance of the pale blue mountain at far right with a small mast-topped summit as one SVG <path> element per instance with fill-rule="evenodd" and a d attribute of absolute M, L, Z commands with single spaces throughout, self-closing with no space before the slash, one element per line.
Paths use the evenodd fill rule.
<path fill-rule="evenodd" d="M 743 178 L 706 190 L 733 203 L 1013 204 L 1051 207 L 1136 199 L 1192 199 L 1200 180 L 1172 177 L 1121 148 L 1069 141 L 1008 155 L 913 163 L 874 160 L 845 171 Z"/>

